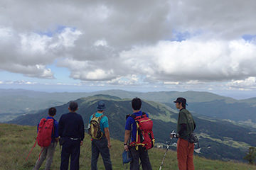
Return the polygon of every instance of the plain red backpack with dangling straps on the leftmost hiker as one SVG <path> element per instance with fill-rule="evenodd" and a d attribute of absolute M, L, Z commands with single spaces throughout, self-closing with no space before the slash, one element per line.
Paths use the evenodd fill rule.
<path fill-rule="evenodd" d="M 54 130 L 54 120 L 53 119 L 48 119 L 46 120 L 46 118 L 42 118 L 39 125 L 38 125 L 38 135 L 36 137 L 36 142 L 38 143 L 38 145 L 40 147 L 48 147 L 50 146 L 50 143 L 52 141 L 52 134 L 53 134 L 53 130 Z M 33 150 L 34 147 L 36 147 L 36 142 L 33 145 L 31 152 Z M 29 155 L 31 154 L 31 152 L 29 152 Z M 41 153 L 43 152 L 43 149 L 41 150 Z M 39 157 L 41 155 L 41 153 L 39 154 Z M 26 158 L 26 160 L 28 159 L 28 157 Z"/>

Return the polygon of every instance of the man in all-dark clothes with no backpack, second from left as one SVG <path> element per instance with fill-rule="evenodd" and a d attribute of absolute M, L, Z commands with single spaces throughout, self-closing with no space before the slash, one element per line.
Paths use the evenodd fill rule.
<path fill-rule="evenodd" d="M 80 146 L 85 138 L 85 128 L 82 116 L 78 113 L 78 103 L 71 101 L 68 110 L 70 113 L 63 114 L 59 121 L 59 135 L 62 142 L 60 170 L 79 169 Z"/>

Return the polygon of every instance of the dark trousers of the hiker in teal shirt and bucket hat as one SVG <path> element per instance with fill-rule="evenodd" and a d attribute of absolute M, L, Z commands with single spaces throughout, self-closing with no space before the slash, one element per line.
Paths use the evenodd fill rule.
<path fill-rule="evenodd" d="M 102 156 L 105 169 L 112 170 L 112 163 L 110 160 L 110 149 L 107 147 L 106 137 L 102 137 L 100 140 L 92 140 L 92 170 L 97 170 L 97 160 L 99 158 L 99 154 Z"/>

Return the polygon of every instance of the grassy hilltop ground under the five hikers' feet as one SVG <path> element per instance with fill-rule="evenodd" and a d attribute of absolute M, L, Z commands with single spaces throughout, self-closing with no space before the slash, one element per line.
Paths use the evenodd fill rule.
<path fill-rule="evenodd" d="M 31 153 L 28 161 L 25 162 L 26 156 L 30 151 L 33 143 L 36 139 L 36 128 L 30 126 L 21 125 L 6 125 L 0 124 L 0 169 L 1 170 L 27 170 L 33 169 L 33 166 L 38 158 L 40 147 L 36 146 Z M 122 142 L 112 140 L 111 158 L 113 169 L 124 169 L 122 166 Z M 159 169 L 161 159 L 164 156 L 164 149 L 151 149 L 149 151 L 149 157 L 153 169 Z M 80 169 L 90 169 L 90 137 L 86 135 L 85 143 L 81 148 L 80 154 Z M 220 162 L 209 159 L 203 159 L 201 157 L 195 157 L 194 159 L 196 170 L 251 170 L 256 169 L 256 166 L 250 166 L 247 164 L 235 163 L 235 162 Z M 59 169 L 60 166 L 60 148 L 57 147 L 55 151 L 55 157 L 53 160 L 52 169 Z M 43 166 L 41 169 L 43 169 Z M 99 159 L 98 169 L 104 169 L 102 159 Z M 169 151 L 163 169 L 178 169 L 176 161 L 176 152 Z"/>

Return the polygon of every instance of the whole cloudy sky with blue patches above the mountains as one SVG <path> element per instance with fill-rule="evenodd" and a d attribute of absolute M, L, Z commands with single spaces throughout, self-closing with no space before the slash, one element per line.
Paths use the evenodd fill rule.
<path fill-rule="evenodd" d="M 0 88 L 255 97 L 255 8 L 255 0 L 0 0 Z"/>

